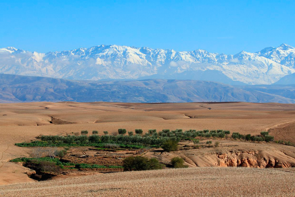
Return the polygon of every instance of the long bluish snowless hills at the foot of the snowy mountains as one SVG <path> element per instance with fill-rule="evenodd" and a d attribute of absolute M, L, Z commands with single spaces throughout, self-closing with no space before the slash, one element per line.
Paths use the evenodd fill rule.
<path fill-rule="evenodd" d="M 195 80 L 73 81 L 0 74 L 0 102 L 280 102 L 295 103 L 295 87 L 232 86 Z"/>

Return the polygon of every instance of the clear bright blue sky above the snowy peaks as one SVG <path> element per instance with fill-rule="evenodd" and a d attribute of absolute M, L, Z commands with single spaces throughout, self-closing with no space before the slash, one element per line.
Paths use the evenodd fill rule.
<path fill-rule="evenodd" d="M 235 54 L 295 46 L 295 1 L 2 1 L 0 48 L 101 44 Z"/>

